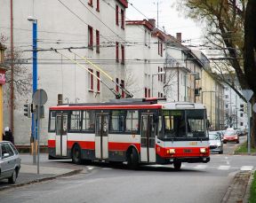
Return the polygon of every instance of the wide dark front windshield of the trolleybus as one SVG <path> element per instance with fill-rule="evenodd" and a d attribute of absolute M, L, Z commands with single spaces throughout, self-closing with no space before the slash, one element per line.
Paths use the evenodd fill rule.
<path fill-rule="evenodd" d="M 164 138 L 207 137 L 205 133 L 205 110 L 164 110 Z"/>

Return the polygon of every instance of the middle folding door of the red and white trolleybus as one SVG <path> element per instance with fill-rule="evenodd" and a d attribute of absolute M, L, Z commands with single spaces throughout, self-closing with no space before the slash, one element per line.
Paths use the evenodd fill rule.
<path fill-rule="evenodd" d="M 108 114 L 96 116 L 95 157 L 108 159 Z"/>

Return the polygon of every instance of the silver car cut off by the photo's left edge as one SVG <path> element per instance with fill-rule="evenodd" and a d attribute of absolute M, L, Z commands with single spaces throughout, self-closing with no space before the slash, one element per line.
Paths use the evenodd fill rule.
<path fill-rule="evenodd" d="M 0 180 L 8 178 L 9 183 L 15 183 L 19 171 L 19 152 L 12 143 L 0 142 Z"/>

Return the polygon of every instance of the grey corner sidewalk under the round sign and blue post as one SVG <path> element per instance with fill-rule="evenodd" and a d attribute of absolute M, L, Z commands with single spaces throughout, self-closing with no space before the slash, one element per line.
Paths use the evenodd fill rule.
<path fill-rule="evenodd" d="M 84 168 L 79 166 L 70 166 L 68 164 L 58 162 L 44 162 L 40 163 L 39 175 L 37 175 L 37 166 L 33 165 L 30 155 L 20 155 L 21 157 L 21 168 L 16 183 L 9 184 L 8 180 L 0 181 L 0 191 L 11 189 L 14 187 L 20 187 L 22 185 L 30 183 L 39 183 L 47 180 L 52 180 L 60 176 L 71 176 L 80 173 Z M 29 158 L 29 160 L 28 160 Z M 22 161 L 25 160 L 25 161 Z M 23 163 L 24 162 L 24 163 Z"/>

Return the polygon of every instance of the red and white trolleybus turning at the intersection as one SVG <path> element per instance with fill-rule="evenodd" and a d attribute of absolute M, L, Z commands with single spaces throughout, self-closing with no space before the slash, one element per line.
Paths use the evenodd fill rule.
<path fill-rule="evenodd" d="M 49 113 L 49 159 L 127 161 L 140 164 L 208 162 L 202 104 L 150 99 L 57 105 Z"/>

